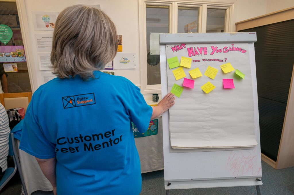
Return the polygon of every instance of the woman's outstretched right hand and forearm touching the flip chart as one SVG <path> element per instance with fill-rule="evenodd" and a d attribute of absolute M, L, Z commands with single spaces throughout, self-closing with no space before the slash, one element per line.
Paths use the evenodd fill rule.
<path fill-rule="evenodd" d="M 152 106 L 153 112 L 151 115 L 151 120 L 156 119 L 159 115 L 173 106 L 173 104 L 175 104 L 175 99 L 176 97 L 174 94 L 168 93 L 160 102 L 158 102 L 157 106 Z"/>

